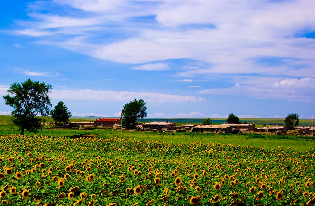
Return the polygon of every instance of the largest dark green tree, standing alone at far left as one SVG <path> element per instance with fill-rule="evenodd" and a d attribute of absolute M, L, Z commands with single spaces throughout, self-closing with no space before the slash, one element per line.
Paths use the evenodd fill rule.
<path fill-rule="evenodd" d="M 21 129 L 21 135 L 24 135 L 25 129 L 29 132 L 37 132 L 42 128 L 43 120 L 37 115 L 48 118 L 52 106 L 48 96 L 50 91 L 51 85 L 31 79 L 21 84 L 15 82 L 10 85 L 7 90 L 9 94 L 3 96 L 3 99 L 5 104 L 14 108 L 11 112 L 14 116 L 12 122 Z"/>

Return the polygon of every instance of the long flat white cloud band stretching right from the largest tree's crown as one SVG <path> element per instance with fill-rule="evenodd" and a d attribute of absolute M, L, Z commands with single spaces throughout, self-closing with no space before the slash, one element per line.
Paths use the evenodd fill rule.
<path fill-rule="evenodd" d="M 58 99 L 132 101 L 142 98 L 146 102 L 198 102 L 202 97 L 160 94 L 153 92 L 110 91 L 110 90 L 53 90 L 49 96 Z"/>

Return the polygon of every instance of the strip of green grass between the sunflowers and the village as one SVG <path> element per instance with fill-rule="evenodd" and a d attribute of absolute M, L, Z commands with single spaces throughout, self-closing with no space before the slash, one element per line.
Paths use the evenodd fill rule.
<path fill-rule="evenodd" d="M 12 116 L 0 116 L 0 135 L 20 134 L 20 130 L 12 125 Z M 46 118 L 47 119 L 47 118 Z M 276 119 L 277 120 L 277 119 Z M 70 121 L 88 121 L 86 119 L 73 119 Z M 47 122 L 53 122 L 51 118 Z M 35 133 L 25 132 L 25 135 L 34 136 Z M 270 136 L 270 135 L 253 135 L 253 134 L 206 134 L 206 133 L 189 133 L 189 132 L 136 132 L 112 129 L 95 129 L 95 130 L 78 130 L 78 129 L 43 129 L 37 135 L 49 137 L 80 137 L 85 135 L 94 135 L 100 138 L 128 138 L 137 140 L 161 140 L 167 143 L 191 143 L 204 141 L 205 143 L 221 144 L 238 144 L 241 146 L 251 145 L 255 147 L 264 146 L 265 148 L 275 148 L 284 146 L 291 147 L 293 150 L 305 151 L 309 148 L 315 148 L 315 140 L 297 136 Z"/>

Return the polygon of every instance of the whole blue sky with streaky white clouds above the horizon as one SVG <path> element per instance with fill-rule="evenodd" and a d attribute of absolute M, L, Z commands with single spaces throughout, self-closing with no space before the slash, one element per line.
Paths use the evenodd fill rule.
<path fill-rule="evenodd" d="M 27 78 L 52 85 L 74 116 L 311 118 L 312 0 L 6 1 L 0 95 Z M 0 115 L 12 111 L 0 99 Z"/>

